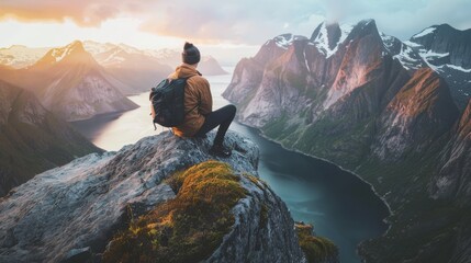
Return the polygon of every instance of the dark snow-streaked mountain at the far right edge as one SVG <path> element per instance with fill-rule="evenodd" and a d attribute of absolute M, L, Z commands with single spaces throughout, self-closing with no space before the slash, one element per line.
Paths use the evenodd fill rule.
<path fill-rule="evenodd" d="M 406 43 L 448 82 L 455 101 L 464 108 L 471 98 L 471 28 L 433 25 Z"/>

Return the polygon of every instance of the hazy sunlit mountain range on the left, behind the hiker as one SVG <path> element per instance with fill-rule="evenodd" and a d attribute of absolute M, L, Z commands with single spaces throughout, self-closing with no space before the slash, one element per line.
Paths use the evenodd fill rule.
<path fill-rule="evenodd" d="M 56 48 L 1 48 L 0 196 L 36 173 L 100 151 L 64 121 L 137 107 L 125 95 L 149 90 L 173 70 L 159 61 L 180 56 L 79 41 Z M 222 73 L 211 57 L 200 66 Z"/>

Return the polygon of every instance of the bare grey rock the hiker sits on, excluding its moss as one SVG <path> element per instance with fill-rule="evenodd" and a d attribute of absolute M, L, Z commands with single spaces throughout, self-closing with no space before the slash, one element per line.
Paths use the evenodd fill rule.
<path fill-rule="evenodd" d="M 0 261 L 59 262 L 99 256 L 117 229 L 175 198 L 168 179 L 213 159 L 206 139 L 170 133 L 143 138 L 117 152 L 92 153 L 36 175 L 0 199 Z M 257 175 L 257 146 L 229 133 L 246 197 L 232 209 L 235 224 L 208 262 L 304 262 L 284 203 Z M 98 253 L 98 254 L 97 254 Z"/>

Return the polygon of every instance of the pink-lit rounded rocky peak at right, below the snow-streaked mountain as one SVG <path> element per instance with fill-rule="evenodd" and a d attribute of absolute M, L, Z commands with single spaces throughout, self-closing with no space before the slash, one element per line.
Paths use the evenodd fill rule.
<path fill-rule="evenodd" d="M 428 150 L 458 119 L 447 83 L 429 68 L 415 71 L 379 117 L 373 156 L 386 162 Z"/>

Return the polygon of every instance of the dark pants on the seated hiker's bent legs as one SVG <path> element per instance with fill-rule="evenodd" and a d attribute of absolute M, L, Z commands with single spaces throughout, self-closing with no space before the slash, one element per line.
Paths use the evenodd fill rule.
<path fill-rule="evenodd" d="M 201 126 L 200 130 L 198 130 L 194 136 L 204 137 L 208 132 L 212 130 L 216 126 L 220 126 L 216 137 L 214 138 L 214 145 L 222 146 L 224 142 L 224 136 L 226 135 L 226 132 L 234 119 L 235 112 L 236 107 L 234 105 L 226 105 L 208 114 L 205 116 L 206 119 L 204 121 L 203 126 Z"/>

